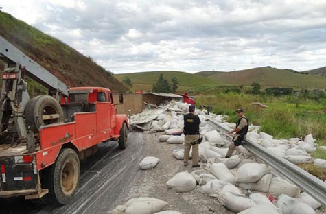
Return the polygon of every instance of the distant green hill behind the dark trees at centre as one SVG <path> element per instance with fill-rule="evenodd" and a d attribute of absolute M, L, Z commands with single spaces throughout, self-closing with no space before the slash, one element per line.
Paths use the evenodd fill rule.
<path fill-rule="evenodd" d="M 163 78 L 169 80 L 170 83 L 171 78 L 178 78 L 178 92 L 187 91 L 189 88 L 192 88 L 194 86 L 216 84 L 214 80 L 210 80 L 209 78 L 180 71 L 150 71 L 141 73 L 124 73 L 116 74 L 115 77 L 120 81 L 125 80 L 127 77 L 130 78 L 133 90 L 150 91 L 152 90 L 153 84 L 156 83 L 159 79 L 159 75 L 161 73 L 163 74 Z"/>

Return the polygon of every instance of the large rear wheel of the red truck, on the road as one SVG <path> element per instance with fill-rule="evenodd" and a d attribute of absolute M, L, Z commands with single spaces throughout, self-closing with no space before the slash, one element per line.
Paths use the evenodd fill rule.
<path fill-rule="evenodd" d="M 36 200 L 37 203 L 68 204 L 75 195 L 80 177 L 80 162 L 75 151 L 61 150 L 56 163 L 44 170 L 41 185 L 43 189 L 49 189 L 49 193 Z"/>

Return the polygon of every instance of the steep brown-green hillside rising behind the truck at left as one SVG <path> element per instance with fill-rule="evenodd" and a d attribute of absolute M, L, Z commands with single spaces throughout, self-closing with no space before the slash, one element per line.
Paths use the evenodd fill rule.
<path fill-rule="evenodd" d="M 10 14 L 0 12 L 0 29 L 0 36 L 68 86 L 104 86 L 121 92 L 128 90 L 91 58 Z"/>

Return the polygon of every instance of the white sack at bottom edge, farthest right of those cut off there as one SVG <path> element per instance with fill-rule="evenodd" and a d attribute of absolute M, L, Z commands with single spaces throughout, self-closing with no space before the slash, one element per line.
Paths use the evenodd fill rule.
<path fill-rule="evenodd" d="M 316 212 L 307 204 L 296 201 L 288 195 L 281 195 L 277 206 L 282 214 L 315 214 Z"/>

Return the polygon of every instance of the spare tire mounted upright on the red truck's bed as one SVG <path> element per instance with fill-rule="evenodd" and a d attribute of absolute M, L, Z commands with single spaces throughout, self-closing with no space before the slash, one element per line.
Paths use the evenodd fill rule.
<path fill-rule="evenodd" d="M 60 104 L 49 95 L 39 95 L 30 99 L 25 107 L 24 115 L 27 126 L 30 126 L 34 133 L 38 133 L 41 126 L 62 123 L 64 120 Z"/>

